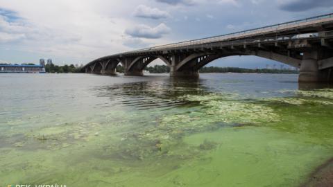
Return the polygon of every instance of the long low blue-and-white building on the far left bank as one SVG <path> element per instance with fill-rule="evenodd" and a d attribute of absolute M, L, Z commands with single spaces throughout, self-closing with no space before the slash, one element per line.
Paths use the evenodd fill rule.
<path fill-rule="evenodd" d="M 0 73 L 45 73 L 45 67 L 42 65 L 3 64 L 0 65 Z"/>

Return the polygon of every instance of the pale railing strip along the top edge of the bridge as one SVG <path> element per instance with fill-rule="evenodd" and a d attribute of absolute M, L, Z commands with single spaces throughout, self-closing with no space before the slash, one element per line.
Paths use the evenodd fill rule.
<path fill-rule="evenodd" d="M 262 33 L 264 31 L 274 31 L 274 30 L 280 30 L 282 28 L 288 28 L 289 26 L 302 26 L 306 23 L 311 23 L 313 21 L 318 21 L 321 19 L 327 19 L 327 18 L 332 18 L 333 17 L 333 13 L 331 14 L 327 14 L 327 15 L 320 15 L 320 16 L 316 16 L 316 17 L 309 17 L 306 19 L 299 19 L 296 21 L 289 21 L 289 22 L 285 22 L 282 24 L 275 24 L 272 26 L 264 26 L 261 28 L 254 28 L 254 29 L 250 29 L 250 30 L 244 30 L 241 32 L 236 32 L 236 33 L 230 33 L 230 34 L 226 34 L 226 35 L 219 35 L 219 36 L 214 36 L 214 37 L 206 37 L 203 39 L 194 39 L 194 40 L 189 40 L 187 42 L 178 42 L 178 43 L 174 43 L 174 44 L 166 44 L 166 45 L 162 45 L 162 46 L 154 46 L 151 48 L 144 48 L 141 50 L 137 50 L 137 51 L 130 51 L 128 53 L 135 53 L 135 52 L 142 52 L 142 51 L 151 51 L 151 50 L 158 50 L 161 48 L 177 48 L 180 46 L 191 46 L 191 45 L 198 45 L 198 44 L 205 44 L 205 43 L 212 43 L 212 42 L 221 42 L 225 39 L 232 39 L 234 37 L 241 37 L 244 35 L 250 35 L 250 34 L 256 34 L 256 33 Z M 315 24 L 315 23 L 313 23 Z"/>

